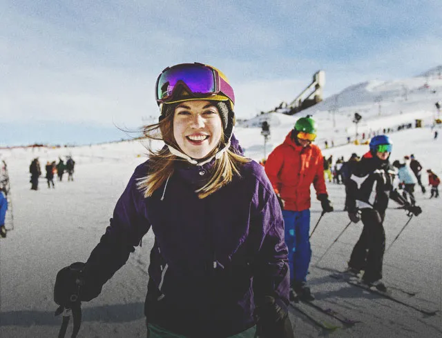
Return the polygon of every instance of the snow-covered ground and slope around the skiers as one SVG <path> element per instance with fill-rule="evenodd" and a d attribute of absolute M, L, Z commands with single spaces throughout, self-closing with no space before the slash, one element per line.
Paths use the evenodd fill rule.
<path fill-rule="evenodd" d="M 436 93 L 427 91 L 428 88 L 419 89 L 425 81 Z M 409 88 L 406 101 L 403 94 L 398 95 L 398 88 L 403 88 L 404 83 Z M 326 156 L 334 155 L 335 159 L 340 156 L 348 159 L 352 152 L 363 155 L 367 151 L 366 145 L 346 144 L 347 135 L 354 137 L 351 120 L 355 111 L 363 115 L 360 134 L 364 130 L 368 133 L 370 129 L 396 129 L 402 123 L 413 123 L 414 126 L 414 119 L 419 118 L 423 119 L 424 128 L 390 133 L 394 142 L 391 159 L 402 159 L 404 155 L 413 153 L 424 166 L 424 183 L 427 183 L 427 168 L 442 176 L 442 143 L 440 138 L 433 139 L 434 130 L 430 128 L 435 115 L 434 102 L 440 95 L 437 92 L 442 92 L 442 81 L 428 76 L 353 87 L 348 91 L 361 99 L 348 99 L 345 103 L 344 98 L 351 95 L 345 94 L 346 91 L 340 93 L 342 101 L 335 114 L 335 127 L 332 114 L 328 111 L 332 101 L 320 103 L 323 108 L 318 105 L 309 109 L 318 121 L 318 144 L 321 148 L 324 148 L 325 140 L 334 139 L 335 142 L 334 148 L 324 149 L 323 153 Z M 376 93 L 373 93 L 375 90 Z M 380 95 L 384 100 L 381 115 L 378 114 L 376 103 L 376 97 Z M 388 104 L 387 100 L 390 100 Z M 304 116 L 305 113 L 300 115 Z M 253 123 L 259 126 L 256 121 L 259 118 L 262 116 L 256 117 L 255 121 L 247 121 L 247 128 L 244 123 L 236 128 L 236 135 L 246 149 L 246 155 L 256 160 L 262 159 L 264 147 L 260 128 L 253 127 Z M 274 113 L 268 118 L 271 139 L 267 143 L 267 154 L 285 138 L 298 117 Z M 14 229 L 8 232 L 6 239 L 0 240 L 0 337 L 56 337 L 61 319 L 54 317 L 57 308 L 52 299 L 55 275 L 60 268 L 88 258 L 108 226 L 113 207 L 135 166 L 145 161 L 145 150 L 139 141 L 125 141 L 75 148 L 16 148 L 1 150 L 1 153 L 10 172 Z M 44 170 L 46 161 L 56 161 L 58 157 L 66 155 L 72 155 L 76 161 L 75 181 L 68 182 L 64 177 L 62 182 L 55 180 L 55 189 L 48 189 L 46 180 L 41 178 L 39 190 L 30 190 L 28 168 L 34 157 L 39 157 Z M 442 337 L 440 312 L 427 317 L 329 277 L 330 270 L 345 268 L 361 233 L 361 223 L 350 226 L 320 264 L 314 266 L 349 222 L 347 213 L 342 212 L 345 199 L 343 186 L 327 183 L 327 189 L 336 212 L 323 217 L 311 238 L 313 257 L 308 280 L 318 304 L 338 310 L 362 323 L 332 333 L 323 332 L 309 319 L 291 309 L 297 337 Z M 407 301 L 440 311 L 442 199 L 429 199 L 428 192 L 423 195 L 419 189 L 416 190 L 417 203 L 423 213 L 412 219 L 385 255 L 384 279 L 387 285 L 419 292 L 407 298 Z M 408 219 L 403 210 L 395 208 L 395 203 L 390 203 L 385 219 L 387 246 Z M 311 211 L 313 227 L 320 216 L 318 201 L 314 201 Z M 9 212 L 7 227 L 10 226 Z M 138 247 L 127 264 L 108 281 L 102 294 L 83 304 L 84 320 L 79 337 L 146 336 L 143 304 L 148 279 L 148 253 L 152 244 L 153 234 L 148 232 L 142 247 Z M 339 324 L 311 308 L 306 309 L 324 321 Z"/>

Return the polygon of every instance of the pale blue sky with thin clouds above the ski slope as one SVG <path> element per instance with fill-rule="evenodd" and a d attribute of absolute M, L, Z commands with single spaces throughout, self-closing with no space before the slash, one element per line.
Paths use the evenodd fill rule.
<path fill-rule="evenodd" d="M 127 138 L 157 117 L 157 74 L 209 63 L 239 118 L 442 64 L 434 1 L 0 1 L 0 146 Z"/>

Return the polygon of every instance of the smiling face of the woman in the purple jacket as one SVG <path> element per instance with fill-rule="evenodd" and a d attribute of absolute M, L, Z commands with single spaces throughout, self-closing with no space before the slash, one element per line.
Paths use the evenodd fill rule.
<path fill-rule="evenodd" d="M 184 101 L 175 108 L 173 137 L 187 156 L 204 159 L 218 146 L 221 136 L 220 112 L 209 101 Z"/>

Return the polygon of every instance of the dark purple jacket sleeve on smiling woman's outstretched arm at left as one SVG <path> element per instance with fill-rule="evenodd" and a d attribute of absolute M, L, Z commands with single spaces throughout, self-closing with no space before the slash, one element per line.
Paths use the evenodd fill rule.
<path fill-rule="evenodd" d="M 127 261 L 135 246 L 148 232 L 150 223 L 142 214 L 142 193 L 137 190 L 135 173 L 119 197 L 110 225 L 93 249 L 82 270 L 84 287 L 80 290 L 81 300 L 90 300 L 99 295 L 102 286 Z"/>

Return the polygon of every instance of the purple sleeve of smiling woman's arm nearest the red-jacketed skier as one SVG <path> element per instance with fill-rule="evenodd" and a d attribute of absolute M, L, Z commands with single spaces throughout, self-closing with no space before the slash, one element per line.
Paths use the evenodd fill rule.
<path fill-rule="evenodd" d="M 269 185 L 270 188 L 270 185 Z M 289 265 L 284 241 L 284 221 L 273 191 L 263 189 L 264 205 L 251 220 L 260 233 L 261 243 L 253 264 L 253 295 L 259 305 L 271 296 L 284 308 L 289 304 Z"/>

